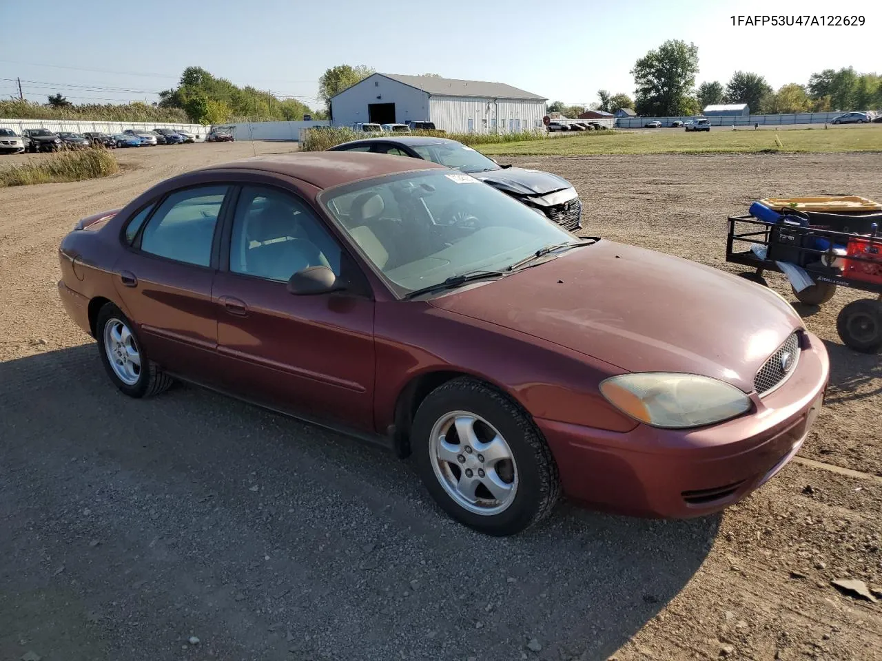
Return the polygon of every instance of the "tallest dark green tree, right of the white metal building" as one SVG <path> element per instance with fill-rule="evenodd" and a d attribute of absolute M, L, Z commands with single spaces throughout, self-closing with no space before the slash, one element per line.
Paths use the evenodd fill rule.
<path fill-rule="evenodd" d="M 650 50 L 631 71 L 639 115 L 683 115 L 698 72 L 699 48 L 693 43 L 670 40 Z"/>

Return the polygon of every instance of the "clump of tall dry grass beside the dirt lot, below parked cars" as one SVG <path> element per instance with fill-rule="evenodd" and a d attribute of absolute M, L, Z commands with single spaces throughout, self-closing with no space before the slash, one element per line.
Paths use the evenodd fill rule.
<path fill-rule="evenodd" d="M 0 169 L 0 187 L 30 183 L 80 182 L 119 172 L 113 154 L 103 147 L 57 152 L 45 160 L 28 160 L 20 166 Z"/>

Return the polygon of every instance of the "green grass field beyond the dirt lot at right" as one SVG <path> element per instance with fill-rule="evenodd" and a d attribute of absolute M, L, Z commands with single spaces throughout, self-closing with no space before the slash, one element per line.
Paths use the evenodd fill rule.
<path fill-rule="evenodd" d="M 882 152 L 882 125 L 848 129 L 727 130 L 687 133 L 617 130 L 551 140 L 475 145 L 487 154 L 581 156 L 586 154 L 749 153 L 749 152 Z"/>

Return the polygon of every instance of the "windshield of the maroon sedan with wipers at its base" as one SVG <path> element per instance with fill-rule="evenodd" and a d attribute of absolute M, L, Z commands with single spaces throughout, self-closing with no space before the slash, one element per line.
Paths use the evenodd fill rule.
<path fill-rule="evenodd" d="M 505 193 L 449 170 L 356 182 L 319 199 L 400 295 L 579 242 Z"/>

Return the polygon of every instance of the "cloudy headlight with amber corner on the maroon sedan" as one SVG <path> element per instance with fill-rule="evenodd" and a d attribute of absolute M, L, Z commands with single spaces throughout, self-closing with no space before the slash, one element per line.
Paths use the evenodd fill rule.
<path fill-rule="evenodd" d="M 676 372 L 612 376 L 601 382 L 600 390 L 619 411 L 667 429 L 702 427 L 751 408 L 750 397 L 729 383 Z"/>

